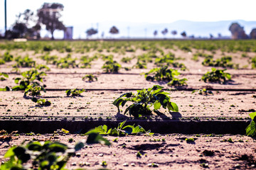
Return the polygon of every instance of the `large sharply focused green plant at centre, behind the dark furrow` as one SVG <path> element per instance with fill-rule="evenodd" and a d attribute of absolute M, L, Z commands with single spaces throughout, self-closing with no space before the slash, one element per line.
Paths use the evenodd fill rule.
<path fill-rule="evenodd" d="M 178 112 L 178 106 L 176 103 L 171 102 L 167 92 L 161 91 L 164 87 L 159 85 L 154 85 L 149 89 L 137 90 L 137 94 L 132 92 L 122 94 L 117 98 L 113 105 L 117 106 L 118 112 L 120 112 L 119 106 L 125 106 L 129 101 L 132 102 L 130 106 L 124 111 L 124 115 L 129 111 L 129 115 L 133 115 L 135 118 L 139 118 L 142 115 L 151 115 L 151 106 L 154 106 L 154 112 L 157 111 L 161 106 L 163 108 L 168 108 L 169 111 Z"/>

